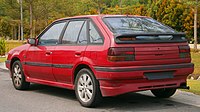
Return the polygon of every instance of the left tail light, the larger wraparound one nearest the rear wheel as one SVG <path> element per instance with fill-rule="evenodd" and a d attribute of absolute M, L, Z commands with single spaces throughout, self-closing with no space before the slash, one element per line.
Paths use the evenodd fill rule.
<path fill-rule="evenodd" d="M 131 48 L 131 47 L 109 48 L 108 60 L 109 61 L 134 61 L 135 50 L 134 48 Z"/>

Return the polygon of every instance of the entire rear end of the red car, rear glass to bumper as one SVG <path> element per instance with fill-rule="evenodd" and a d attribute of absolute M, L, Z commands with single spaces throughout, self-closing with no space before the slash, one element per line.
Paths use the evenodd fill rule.
<path fill-rule="evenodd" d="M 187 88 L 193 72 L 184 33 L 148 17 L 106 16 L 107 59 L 95 66 L 103 96 L 161 88 Z M 101 22 L 100 20 L 100 22 Z"/>

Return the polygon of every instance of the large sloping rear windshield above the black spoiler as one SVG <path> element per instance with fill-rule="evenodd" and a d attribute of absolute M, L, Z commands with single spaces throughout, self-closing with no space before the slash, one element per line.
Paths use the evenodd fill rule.
<path fill-rule="evenodd" d="M 113 33 L 175 33 L 152 18 L 145 17 L 105 17 L 105 24 Z"/>

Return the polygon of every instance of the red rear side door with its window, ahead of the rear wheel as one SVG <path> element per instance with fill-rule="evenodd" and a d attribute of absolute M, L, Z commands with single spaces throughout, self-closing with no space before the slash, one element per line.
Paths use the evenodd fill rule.
<path fill-rule="evenodd" d="M 72 68 L 83 60 L 87 47 L 87 27 L 86 19 L 68 21 L 53 54 L 53 74 L 58 82 L 72 83 Z"/>

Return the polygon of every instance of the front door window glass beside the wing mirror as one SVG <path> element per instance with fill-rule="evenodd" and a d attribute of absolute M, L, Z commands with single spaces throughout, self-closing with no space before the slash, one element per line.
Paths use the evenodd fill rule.
<path fill-rule="evenodd" d="M 65 22 L 55 23 L 39 39 L 39 45 L 56 45 L 60 34 L 65 26 Z"/>

